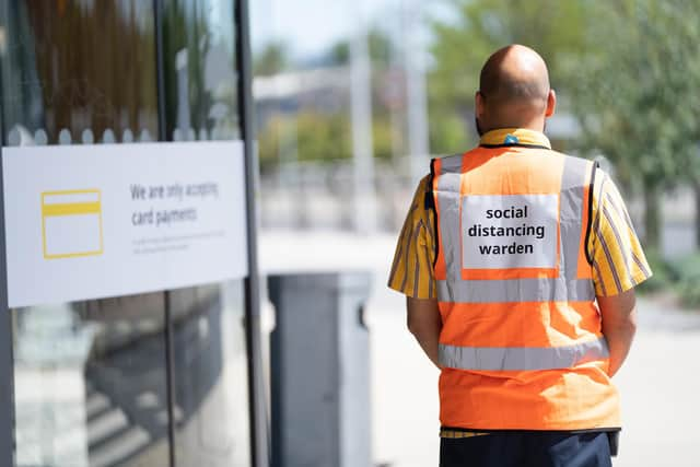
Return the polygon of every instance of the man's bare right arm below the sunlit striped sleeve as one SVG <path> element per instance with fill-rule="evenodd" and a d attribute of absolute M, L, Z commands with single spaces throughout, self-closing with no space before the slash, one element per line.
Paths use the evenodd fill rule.
<path fill-rule="evenodd" d="M 637 331 L 634 289 L 618 295 L 598 296 L 597 300 L 603 318 L 603 335 L 610 349 L 608 375 L 614 376 L 622 366 Z"/>

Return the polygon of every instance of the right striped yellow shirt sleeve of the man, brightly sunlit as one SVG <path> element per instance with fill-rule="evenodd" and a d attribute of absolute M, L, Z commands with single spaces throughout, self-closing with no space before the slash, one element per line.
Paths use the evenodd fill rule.
<path fill-rule="evenodd" d="M 598 170 L 593 195 L 588 252 L 598 296 L 617 295 L 652 276 L 625 201 L 610 177 Z"/>

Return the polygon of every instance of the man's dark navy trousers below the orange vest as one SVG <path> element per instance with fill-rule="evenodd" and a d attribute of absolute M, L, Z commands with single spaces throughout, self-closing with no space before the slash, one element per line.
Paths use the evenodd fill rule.
<path fill-rule="evenodd" d="M 491 433 L 440 442 L 440 467 L 611 467 L 607 433 Z"/>

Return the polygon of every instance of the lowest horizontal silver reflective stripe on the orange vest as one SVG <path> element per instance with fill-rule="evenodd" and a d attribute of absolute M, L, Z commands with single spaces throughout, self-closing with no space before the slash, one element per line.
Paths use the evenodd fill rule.
<path fill-rule="evenodd" d="M 439 360 L 456 370 L 528 371 L 571 369 L 582 363 L 607 359 L 604 337 L 563 347 L 457 347 L 441 343 Z"/>

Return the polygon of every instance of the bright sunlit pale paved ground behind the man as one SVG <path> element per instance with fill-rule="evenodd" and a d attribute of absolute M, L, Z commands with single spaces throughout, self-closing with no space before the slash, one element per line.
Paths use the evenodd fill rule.
<path fill-rule="evenodd" d="M 372 346 L 373 441 L 376 463 L 436 466 L 438 371 L 405 326 L 404 297 L 385 287 L 390 235 L 267 232 L 265 271 L 364 269 L 374 275 L 366 308 Z M 700 454 L 700 314 L 640 301 L 640 330 L 616 376 L 625 430 L 616 467 L 698 467 Z"/>

